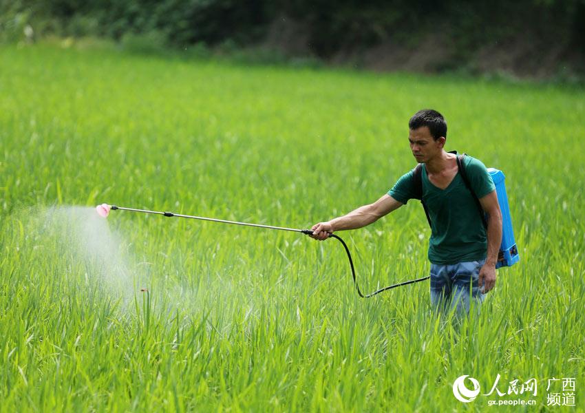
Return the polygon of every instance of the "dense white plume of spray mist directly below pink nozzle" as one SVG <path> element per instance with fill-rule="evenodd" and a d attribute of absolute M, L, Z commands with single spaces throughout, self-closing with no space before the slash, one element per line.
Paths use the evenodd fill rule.
<path fill-rule="evenodd" d="M 127 253 L 128 245 L 92 207 L 30 209 L 12 220 L 12 230 L 21 235 L 18 253 L 32 259 L 32 268 L 54 260 L 56 273 L 65 274 L 75 286 L 70 293 L 97 289 L 125 308 L 134 298 L 135 286 L 144 282 Z"/>

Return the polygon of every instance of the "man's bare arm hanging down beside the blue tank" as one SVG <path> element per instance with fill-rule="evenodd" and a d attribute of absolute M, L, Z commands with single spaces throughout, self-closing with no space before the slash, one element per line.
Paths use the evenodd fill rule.
<path fill-rule="evenodd" d="M 480 198 L 482 209 L 488 214 L 487 220 L 487 258 L 480 269 L 479 286 L 484 286 L 484 293 L 487 293 L 496 286 L 496 263 L 500 244 L 502 244 L 502 213 L 498 203 L 496 191 L 491 191 L 485 197 Z"/>

